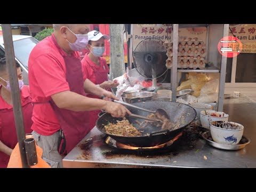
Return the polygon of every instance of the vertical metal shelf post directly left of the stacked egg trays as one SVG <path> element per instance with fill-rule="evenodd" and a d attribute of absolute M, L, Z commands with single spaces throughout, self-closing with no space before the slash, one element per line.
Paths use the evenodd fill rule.
<path fill-rule="evenodd" d="M 179 24 L 173 24 L 173 44 L 172 44 L 172 102 L 176 102 L 176 89 L 177 89 L 177 63 L 178 63 L 178 41 L 179 41 Z"/>

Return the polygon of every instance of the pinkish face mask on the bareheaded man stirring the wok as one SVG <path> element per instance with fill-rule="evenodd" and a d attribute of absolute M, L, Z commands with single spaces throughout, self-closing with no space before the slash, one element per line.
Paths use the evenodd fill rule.
<path fill-rule="evenodd" d="M 70 29 L 68 28 L 68 30 L 70 30 Z M 73 33 L 73 31 L 71 31 L 71 33 Z M 66 39 L 67 42 L 69 43 L 69 46 L 70 46 L 71 50 L 73 50 L 73 51 L 82 51 L 82 50 L 84 50 L 86 48 L 88 42 L 89 42 L 88 35 L 87 34 L 74 34 L 74 35 L 77 38 L 74 43 L 70 43 L 68 41 L 68 39 Z"/>

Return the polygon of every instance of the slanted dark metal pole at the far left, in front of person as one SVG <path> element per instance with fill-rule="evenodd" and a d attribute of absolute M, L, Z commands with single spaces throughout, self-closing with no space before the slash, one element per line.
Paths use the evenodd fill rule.
<path fill-rule="evenodd" d="M 19 148 L 20 148 L 21 163 L 22 163 L 22 167 L 28 168 L 29 166 L 27 163 L 26 151 L 25 151 L 25 146 L 23 142 L 26 139 L 26 136 L 25 136 L 24 121 L 23 121 L 23 114 L 22 114 L 22 107 L 21 107 L 17 67 L 14 59 L 11 25 L 2 24 L 2 30 L 3 30 L 3 38 L 4 38 L 4 49 L 5 49 L 5 57 L 6 57 L 6 63 L 7 63 L 7 71 L 9 74 L 9 81 L 11 86 L 13 113 L 14 113 L 17 138 L 18 138 Z"/>

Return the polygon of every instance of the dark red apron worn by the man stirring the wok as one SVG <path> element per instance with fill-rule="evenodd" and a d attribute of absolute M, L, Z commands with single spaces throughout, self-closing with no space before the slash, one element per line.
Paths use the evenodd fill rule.
<path fill-rule="evenodd" d="M 53 37 L 52 40 L 61 53 L 58 43 Z M 66 65 L 66 80 L 69 84 L 70 91 L 85 96 L 81 60 L 73 56 L 62 55 L 62 57 Z M 67 154 L 89 133 L 89 111 L 60 109 L 52 100 L 50 103 L 59 120 L 60 128 L 65 135 L 66 153 L 64 154 Z"/>

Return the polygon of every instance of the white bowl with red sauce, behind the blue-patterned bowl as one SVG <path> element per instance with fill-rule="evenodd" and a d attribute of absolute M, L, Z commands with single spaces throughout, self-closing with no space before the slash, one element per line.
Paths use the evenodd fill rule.
<path fill-rule="evenodd" d="M 220 117 L 213 116 L 213 114 L 218 115 Z M 200 121 L 204 128 L 210 129 L 210 122 L 228 121 L 228 114 L 215 110 L 202 110 L 200 112 Z"/>

